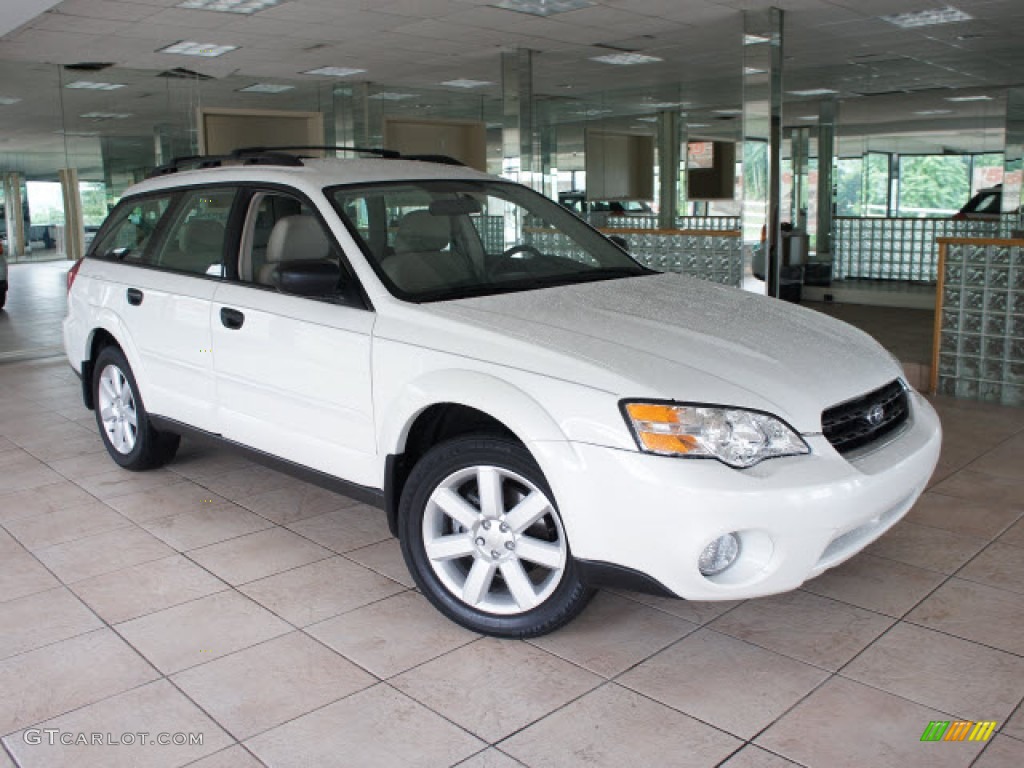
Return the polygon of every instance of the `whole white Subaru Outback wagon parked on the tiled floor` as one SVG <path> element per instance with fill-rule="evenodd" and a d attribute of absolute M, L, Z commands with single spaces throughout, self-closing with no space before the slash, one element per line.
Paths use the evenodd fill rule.
<path fill-rule="evenodd" d="M 452 620 L 527 637 L 592 588 L 792 590 L 913 505 L 940 427 L 811 310 L 653 272 L 438 162 L 240 152 L 132 187 L 69 275 L 111 457 L 211 438 L 383 507 Z"/>

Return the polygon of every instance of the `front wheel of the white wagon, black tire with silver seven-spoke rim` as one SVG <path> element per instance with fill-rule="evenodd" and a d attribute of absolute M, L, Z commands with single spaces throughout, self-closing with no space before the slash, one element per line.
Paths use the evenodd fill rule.
<path fill-rule="evenodd" d="M 592 595 L 541 468 L 514 440 L 461 437 L 428 451 L 406 482 L 398 526 L 420 590 L 474 632 L 545 635 Z"/>

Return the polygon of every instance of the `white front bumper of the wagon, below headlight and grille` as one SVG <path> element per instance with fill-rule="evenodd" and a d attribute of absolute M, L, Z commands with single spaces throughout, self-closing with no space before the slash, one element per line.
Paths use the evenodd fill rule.
<path fill-rule="evenodd" d="M 535 447 L 574 557 L 639 571 L 686 599 L 733 600 L 796 589 L 909 511 L 942 440 L 932 407 L 916 393 L 911 403 L 907 423 L 869 453 L 842 457 L 810 437 L 810 456 L 741 471 L 582 443 Z M 702 575 L 701 550 L 729 532 L 740 540 L 736 562 Z"/>

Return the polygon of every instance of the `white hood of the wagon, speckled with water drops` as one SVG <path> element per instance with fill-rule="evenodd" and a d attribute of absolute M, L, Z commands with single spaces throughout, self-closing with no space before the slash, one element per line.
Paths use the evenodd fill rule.
<path fill-rule="evenodd" d="M 498 335 L 555 352 L 538 358 L 545 369 L 539 373 L 607 387 L 599 373 L 606 372 L 623 397 L 766 410 L 805 433 L 820 431 L 823 409 L 902 375 L 878 342 L 852 326 L 680 274 L 421 307 L 469 324 L 481 341 L 483 335 Z M 500 349 L 509 351 L 506 344 Z M 566 360 L 564 370 L 548 370 L 559 358 Z M 534 368 L 528 354 L 517 364 Z"/>

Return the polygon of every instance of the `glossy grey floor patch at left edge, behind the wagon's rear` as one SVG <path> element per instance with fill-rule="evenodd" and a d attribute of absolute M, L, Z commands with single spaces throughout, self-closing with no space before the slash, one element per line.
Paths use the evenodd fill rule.
<path fill-rule="evenodd" d="M 60 354 L 69 261 L 10 264 L 7 305 L 0 311 L 0 360 Z"/>

